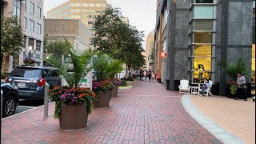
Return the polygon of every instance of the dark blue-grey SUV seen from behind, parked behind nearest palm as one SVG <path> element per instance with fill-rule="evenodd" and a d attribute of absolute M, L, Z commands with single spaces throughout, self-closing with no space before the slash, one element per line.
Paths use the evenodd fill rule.
<path fill-rule="evenodd" d="M 52 66 L 18 66 L 6 82 L 18 87 L 20 99 L 43 100 L 46 82 L 50 88 L 62 85 L 58 69 Z"/>

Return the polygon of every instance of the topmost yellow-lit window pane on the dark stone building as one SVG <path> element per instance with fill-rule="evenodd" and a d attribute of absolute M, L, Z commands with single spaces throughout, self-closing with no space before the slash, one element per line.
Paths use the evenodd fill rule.
<path fill-rule="evenodd" d="M 212 43 L 212 33 L 194 33 L 194 43 Z"/>

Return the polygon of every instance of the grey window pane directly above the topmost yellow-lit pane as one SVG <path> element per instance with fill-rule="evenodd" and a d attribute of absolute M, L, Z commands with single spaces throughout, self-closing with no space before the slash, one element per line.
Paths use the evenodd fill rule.
<path fill-rule="evenodd" d="M 194 30 L 213 30 L 213 20 L 194 20 Z"/>

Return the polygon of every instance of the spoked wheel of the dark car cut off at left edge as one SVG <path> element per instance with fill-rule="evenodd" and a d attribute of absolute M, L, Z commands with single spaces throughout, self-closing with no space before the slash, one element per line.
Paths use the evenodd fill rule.
<path fill-rule="evenodd" d="M 2 117 L 13 115 L 16 110 L 17 101 L 12 95 L 8 95 L 2 103 Z"/>

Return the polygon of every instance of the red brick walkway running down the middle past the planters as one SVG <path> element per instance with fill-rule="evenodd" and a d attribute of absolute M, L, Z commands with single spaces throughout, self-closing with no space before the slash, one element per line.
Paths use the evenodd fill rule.
<path fill-rule="evenodd" d="M 95 109 L 86 130 L 59 130 L 43 107 L 2 122 L 2 143 L 221 143 L 187 114 L 181 95 L 153 82 L 135 82 L 118 90 L 110 108 Z"/>

